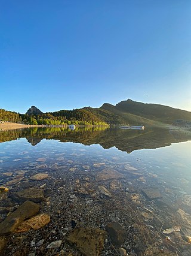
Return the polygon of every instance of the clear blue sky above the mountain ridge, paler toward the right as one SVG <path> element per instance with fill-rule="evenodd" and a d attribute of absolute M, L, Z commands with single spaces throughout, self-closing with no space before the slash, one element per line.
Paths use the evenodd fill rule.
<path fill-rule="evenodd" d="M 0 108 L 191 111 L 190 0 L 1 0 Z"/>

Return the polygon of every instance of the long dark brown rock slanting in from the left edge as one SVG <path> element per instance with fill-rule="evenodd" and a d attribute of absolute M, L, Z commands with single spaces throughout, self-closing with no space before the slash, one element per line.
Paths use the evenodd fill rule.
<path fill-rule="evenodd" d="M 39 212 L 39 208 L 38 204 L 33 203 L 32 201 L 25 201 L 17 208 L 17 210 L 8 215 L 7 218 L 0 223 L 0 236 L 10 234 L 16 230 L 21 222 L 36 215 L 36 213 Z"/>

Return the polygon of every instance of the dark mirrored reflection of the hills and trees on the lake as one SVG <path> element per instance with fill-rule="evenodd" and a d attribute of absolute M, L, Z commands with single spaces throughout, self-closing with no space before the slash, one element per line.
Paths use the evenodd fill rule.
<path fill-rule="evenodd" d="M 0 142 L 26 138 L 35 146 L 43 138 L 60 142 L 75 142 L 84 145 L 100 144 L 104 149 L 116 147 L 128 153 L 138 149 L 155 149 L 172 143 L 191 140 L 191 131 L 175 131 L 161 127 L 146 127 L 145 130 L 108 127 L 76 127 L 75 130 L 60 127 L 27 128 L 0 132 Z"/>

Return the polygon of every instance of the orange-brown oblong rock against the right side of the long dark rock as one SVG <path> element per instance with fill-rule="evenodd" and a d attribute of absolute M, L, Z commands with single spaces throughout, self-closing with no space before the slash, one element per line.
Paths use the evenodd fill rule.
<path fill-rule="evenodd" d="M 32 217 L 30 219 L 27 219 L 21 225 L 15 230 L 15 232 L 26 232 L 30 229 L 33 230 L 39 230 L 39 228 L 44 227 L 50 222 L 50 215 L 42 213 L 39 215 L 36 215 L 35 217 Z"/>

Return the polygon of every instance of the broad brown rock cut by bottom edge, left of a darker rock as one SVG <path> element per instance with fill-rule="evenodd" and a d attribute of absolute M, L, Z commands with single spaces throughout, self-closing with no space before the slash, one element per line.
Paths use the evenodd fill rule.
<path fill-rule="evenodd" d="M 106 232 L 98 228 L 75 228 L 68 237 L 70 243 L 75 243 L 76 248 L 85 256 L 100 255 Z"/>

